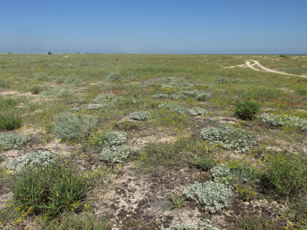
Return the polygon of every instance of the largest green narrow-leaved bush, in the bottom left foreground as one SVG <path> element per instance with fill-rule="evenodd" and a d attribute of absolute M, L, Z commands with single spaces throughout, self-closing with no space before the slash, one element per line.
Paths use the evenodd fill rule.
<path fill-rule="evenodd" d="M 10 187 L 14 203 L 34 215 L 55 217 L 64 211 L 82 209 L 91 178 L 71 164 L 56 161 L 44 166 L 27 167 Z"/>

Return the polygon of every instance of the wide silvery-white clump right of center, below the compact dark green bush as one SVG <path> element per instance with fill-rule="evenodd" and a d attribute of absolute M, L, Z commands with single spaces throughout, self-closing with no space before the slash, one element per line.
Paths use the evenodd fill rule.
<path fill-rule="evenodd" d="M 235 153 L 249 151 L 256 143 L 250 132 L 232 125 L 203 128 L 200 137 L 210 145 L 232 149 Z"/>

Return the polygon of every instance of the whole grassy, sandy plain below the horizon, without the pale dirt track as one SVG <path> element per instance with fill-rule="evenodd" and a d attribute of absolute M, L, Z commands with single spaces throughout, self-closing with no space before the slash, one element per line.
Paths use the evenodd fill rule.
<path fill-rule="evenodd" d="M 307 229 L 307 78 L 224 68 L 245 60 L 307 74 L 306 56 L 1 55 L 1 228 Z"/>

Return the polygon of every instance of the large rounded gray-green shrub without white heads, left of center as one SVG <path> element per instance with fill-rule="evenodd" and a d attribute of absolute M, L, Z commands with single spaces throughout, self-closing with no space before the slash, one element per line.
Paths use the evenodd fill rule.
<path fill-rule="evenodd" d="M 94 118 L 71 112 L 64 112 L 53 116 L 53 130 L 56 138 L 59 139 L 88 136 L 96 123 Z"/>

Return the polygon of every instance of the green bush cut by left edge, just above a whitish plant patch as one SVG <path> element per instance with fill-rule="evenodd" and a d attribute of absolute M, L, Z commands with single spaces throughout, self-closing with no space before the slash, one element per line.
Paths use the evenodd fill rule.
<path fill-rule="evenodd" d="M 14 110 L 0 112 L 0 130 L 12 130 L 21 125 L 21 117 Z"/>

